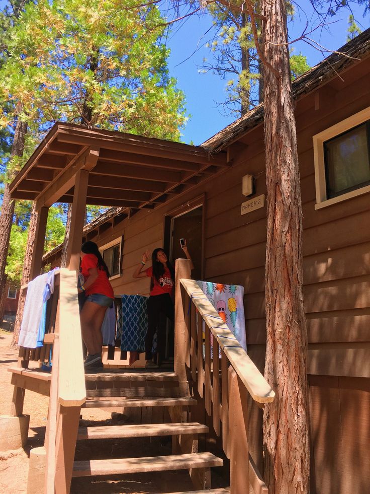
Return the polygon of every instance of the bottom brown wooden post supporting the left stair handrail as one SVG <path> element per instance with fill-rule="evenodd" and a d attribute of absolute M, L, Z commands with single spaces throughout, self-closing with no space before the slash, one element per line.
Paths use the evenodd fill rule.
<path fill-rule="evenodd" d="M 65 494 L 70 490 L 80 411 L 80 406 L 59 406 L 55 446 L 55 494 Z"/>

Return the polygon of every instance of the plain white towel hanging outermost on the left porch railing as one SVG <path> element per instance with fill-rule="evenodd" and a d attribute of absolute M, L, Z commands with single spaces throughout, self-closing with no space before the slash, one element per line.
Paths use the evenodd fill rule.
<path fill-rule="evenodd" d="M 36 348 L 37 335 L 43 311 L 43 292 L 48 273 L 41 274 L 29 282 L 18 344 Z"/>

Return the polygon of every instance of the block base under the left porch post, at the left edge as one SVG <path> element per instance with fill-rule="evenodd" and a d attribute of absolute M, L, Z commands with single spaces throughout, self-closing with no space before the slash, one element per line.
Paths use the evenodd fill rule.
<path fill-rule="evenodd" d="M 0 451 L 23 448 L 28 439 L 30 415 L 0 416 Z"/>

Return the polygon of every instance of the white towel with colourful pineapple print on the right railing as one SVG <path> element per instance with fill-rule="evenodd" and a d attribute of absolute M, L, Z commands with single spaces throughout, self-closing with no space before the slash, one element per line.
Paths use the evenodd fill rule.
<path fill-rule="evenodd" d="M 244 287 L 240 285 L 224 285 L 210 281 L 197 281 L 208 300 L 216 309 L 221 319 L 247 351 L 244 318 Z"/>

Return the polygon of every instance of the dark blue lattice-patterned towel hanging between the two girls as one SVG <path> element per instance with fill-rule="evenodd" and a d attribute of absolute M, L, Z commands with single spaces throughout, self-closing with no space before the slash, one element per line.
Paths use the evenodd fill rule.
<path fill-rule="evenodd" d="M 147 297 L 122 295 L 122 336 L 121 350 L 145 350 L 145 335 L 148 329 L 146 312 Z"/>

